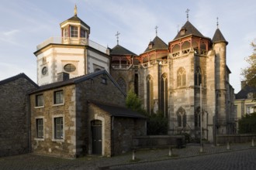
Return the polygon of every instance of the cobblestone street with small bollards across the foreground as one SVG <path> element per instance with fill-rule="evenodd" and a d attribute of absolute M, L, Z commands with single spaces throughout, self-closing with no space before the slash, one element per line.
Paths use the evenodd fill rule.
<path fill-rule="evenodd" d="M 251 147 L 250 143 L 230 145 L 230 150 L 226 145 L 204 145 L 202 153 L 199 149 L 199 145 L 175 148 L 171 157 L 168 149 L 146 149 L 137 151 L 136 161 L 132 161 L 131 152 L 112 158 L 86 156 L 76 159 L 17 155 L 0 158 L 0 169 L 256 169 L 256 147 Z"/>

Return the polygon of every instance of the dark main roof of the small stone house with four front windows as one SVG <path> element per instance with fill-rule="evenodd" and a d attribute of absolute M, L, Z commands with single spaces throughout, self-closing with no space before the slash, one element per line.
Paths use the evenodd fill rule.
<path fill-rule="evenodd" d="M 54 89 L 54 88 L 58 88 L 58 87 L 64 87 L 64 86 L 71 85 L 71 84 L 81 83 L 82 81 L 89 80 L 89 79 L 91 79 L 95 76 L 99 76 L 100 74 L 105 74 L 106 76 L 109 76 L 109 79 L 112 80 L 112 83 L 114 83 L 116 85 L 116 87 L 119 88 L 119 90 L 124 95 L 126 95 L 126 93 L 123 92 L 121 87 L 119 87 L 118 83 L 116 83 L 116 81 L 113 80 L 112 76 L 110 76 L 109 73 L 106 70 L 99 70 L 95 73 L 89 73 L 89 74 L 86 74 L 86 75 L 83 75 L 83 76 L 77 76 L 77 77 L 74 77 L 74 78 L 69 79 L 69 80 L 59 81 L 59 82 L 56 82 L 56 83 L 49 83 L 47 85 L 40 86 L 39 89 L 37 89 L 37 90 L 33 90 L 30 94 L 38 93 L 38 92 L 41 92 L 41 91 L 44 91 L 44 90 L 50 90 L 50 89 Z"/>

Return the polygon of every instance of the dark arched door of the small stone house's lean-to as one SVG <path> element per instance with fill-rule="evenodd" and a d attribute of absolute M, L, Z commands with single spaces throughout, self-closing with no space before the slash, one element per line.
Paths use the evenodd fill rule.
<path fill-rule="evenodd" d="M 102 155 L 102 121 L 91 121 L 92 154 Z"/>

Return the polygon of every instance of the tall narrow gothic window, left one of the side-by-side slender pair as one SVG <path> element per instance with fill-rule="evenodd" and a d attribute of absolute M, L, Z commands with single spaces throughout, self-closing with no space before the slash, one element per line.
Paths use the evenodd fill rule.
<path fill-rule="evenodd" d="M 151 114 L 154 105 L 153 100 L 153 79 L 152 76 L 147 76 L 147 112 Z"/>

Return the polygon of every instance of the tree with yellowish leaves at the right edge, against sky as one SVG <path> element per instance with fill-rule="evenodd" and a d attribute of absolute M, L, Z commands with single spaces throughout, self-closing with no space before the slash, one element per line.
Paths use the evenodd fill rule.
<path fill-rule="evenodd" d="M 247 80 L 249 86 L 256 87 L 256 39 L 251 42 L 251 46 L 253 53 L 245 58 L 249 66 L 241 70 L 241 75 L 244 76 L 244 80 Z"/>

